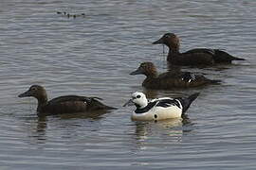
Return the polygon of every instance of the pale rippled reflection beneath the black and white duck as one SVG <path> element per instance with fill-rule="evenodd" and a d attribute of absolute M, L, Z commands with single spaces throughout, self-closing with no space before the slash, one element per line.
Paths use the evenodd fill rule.
<path fill-rule="evenodd" d="M 140 152 L 148 147 L 164 147 L 182 142 L 182 138 L 192 131 L 188 116 L 153 122 L 135 122 L 132 152 Z"/>

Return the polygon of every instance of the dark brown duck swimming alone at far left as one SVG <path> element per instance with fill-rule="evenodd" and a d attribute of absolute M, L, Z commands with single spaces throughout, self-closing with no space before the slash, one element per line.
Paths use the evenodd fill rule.
<path fill-rule="evenodd" d="M 79 95 L 64 95 L 53 98 L 48 101 L 46 89 L 40 85 L 32 85 L 25 93 L 18 97 L 34 97 L 38 101 L 37 114 L 51 115 L 74 112 L 87 112 L 94 110 L 115 110 L 102 104 L 100 97 L 86 97 Z"/>

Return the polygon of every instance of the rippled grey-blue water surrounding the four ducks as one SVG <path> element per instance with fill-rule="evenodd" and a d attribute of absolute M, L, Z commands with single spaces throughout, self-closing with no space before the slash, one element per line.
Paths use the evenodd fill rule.
<path fill-rule="evenodd" d="M 2 0 L 0 169 L 255 169 L 255 18 L 256 2 L 246 0 Z M 166 71 L 167 54 L 152 44 L 166 32 L 179 35 L 182 51 L 222 48 L 247 61 L 184 68 L 219 86 L 146 91 L 144 76 L 128 74 L 141 61 Z M 17 97 L 31 84 L 49 98 L 101 96 L 119 110 L 39 119 L 36 100 Z M 201 95 L 184 121 L 137 123 L 134 108 L 121 107 L 135 91 Z"/>

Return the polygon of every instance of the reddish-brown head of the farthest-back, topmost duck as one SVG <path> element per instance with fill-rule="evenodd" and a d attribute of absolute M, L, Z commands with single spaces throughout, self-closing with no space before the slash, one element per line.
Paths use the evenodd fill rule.
<path fill-rule="evenodd" d="M 166 33 L 153 44 L 165 44 L 174 51 L 179 50 L 179 38 L 174 33 Z"/>

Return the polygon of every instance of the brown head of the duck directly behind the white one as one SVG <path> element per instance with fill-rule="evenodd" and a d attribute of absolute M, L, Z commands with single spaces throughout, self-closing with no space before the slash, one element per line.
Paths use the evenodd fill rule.
<path fill-rule="evenodd" d="M 154 63 L 142 62 L 136 71 L 130 73 L 130 75 L 145 75 L 145 76 L 157 76 L 157 71 Z"/>

